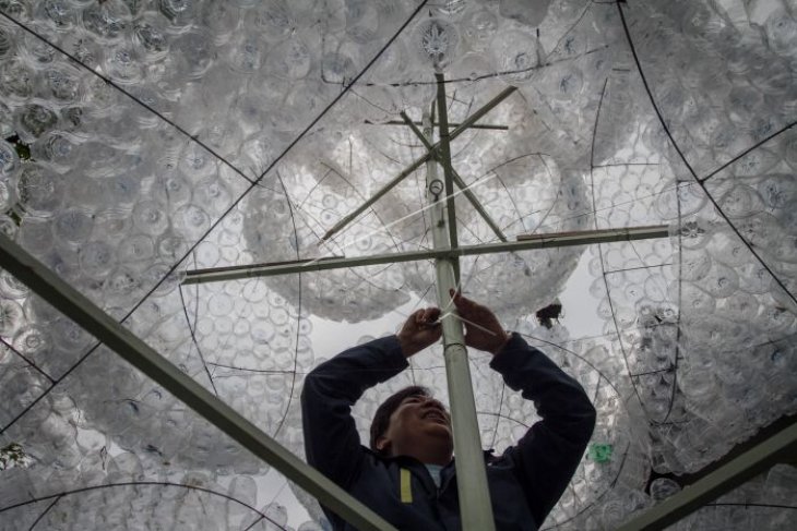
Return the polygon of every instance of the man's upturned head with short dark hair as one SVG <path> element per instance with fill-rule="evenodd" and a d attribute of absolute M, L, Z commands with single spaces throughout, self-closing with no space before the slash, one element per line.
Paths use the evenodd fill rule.
<path fill-rule="evenodd" d="M 412 456 L 423 462 L 444 460 L 444 464 L 451 460 L 454 447 L 451 417 L 433 398 L 407 397 L 390 417 L 380 444 L 386 444 L 393 456 Z"/>

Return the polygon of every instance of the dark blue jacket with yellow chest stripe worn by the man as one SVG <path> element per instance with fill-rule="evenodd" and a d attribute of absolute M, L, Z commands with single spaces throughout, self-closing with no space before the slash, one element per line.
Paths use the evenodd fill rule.
<path fill-rule="evenodd" d="M 392 336 L 348 349 L 316 367 L 301 394 L 307 460 L 401 530 L 460 530 L 453 461 L 443 469 L 438 490 L 416 459 L 383 458 L 361 446 L 350 415 L 366 389 L 407 366 Z M 490 367 L 510 388 L 534 400 L 543 418 L 502 456 L 485 452 L 496 528 L 536 530 L 584 455 L 595 409 L 573 378 L 518 334 L 493 357 Z M 336 530 L 354 529 L 325 512 Z"/>

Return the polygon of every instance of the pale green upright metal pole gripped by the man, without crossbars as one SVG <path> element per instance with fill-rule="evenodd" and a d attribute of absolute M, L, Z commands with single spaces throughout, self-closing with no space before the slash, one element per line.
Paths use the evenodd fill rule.
<path fill-rule="evenodd" d="M 429 114 L 424 116 L 424 134 L 428 138 L 431 137 Z M 426 168 L 427 198 L 433 204 L 431 208 L 432 241 L 435 249 L 449 249 L 444 184 L 438 179 L 437 164 L 433 160 L 427 161 Z M 451 219 L 449 221 L 455 222 Z M 457 257 L 435 260 L 438 304 L 444 310 L 444 313 L 455 314 L 449 294 L 450 289 L 457 289 L 454 279 L 455 262 L 459 262 Z M 487 471 L 481 451 L 481 436 L 476 419 L 476 403 L 473 398 L 471 369 L 467 364 L 462 322 L 453 316 L 448 316 L 442 319 L 442 328 L 462 529 L 464 531 L 492 531 L 495 530 L 492 505 L 487 488 Z"/>

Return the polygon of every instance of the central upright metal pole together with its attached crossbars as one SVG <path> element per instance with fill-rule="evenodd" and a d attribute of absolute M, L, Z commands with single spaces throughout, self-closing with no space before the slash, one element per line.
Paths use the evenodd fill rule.
<path fill-rule="evenodd" d="M 462 323 L 459 318 L 455 318 L 455 309 L 453 307 L 451 295 L 449 294 L 451 289 L 459 288 L 459 257 L 467 254 L 486 254 L 491 252 L 512 252 L 524 249 L 579 245 L 584 244 L 585 240 L 590 243 L 595 243 L 642 238 L 662 238 L 668 236 L 668 228 L 666 226 L 657 226 L 638 229 L 615 229 L 609 231 L 567 232 L 563 234 L 552 236 L 527 234 L 519 238 L 521 241 L 512 243 L 507 242 L 507 238 L 498 225 L 489 217 L 477 197 L 468 190 L 464 181 L 454 171 L 451 162 L 450 141 L 464 131 L 466 123 L 474 123 L 478 118 L 486 114 L 491 108 L 511 95 L 514 88 L 503 90 L 498 97 L 490 100 L 490 102 L 488 102 L 485 107 L 465 120 L 465 122 L 463 122 L 463 124 L 454 132 L 449 133 L 445 82 L 442 74 L 438 73 L 436 74 L 436 77 L 438 83 L 437 110 L 439 113 L 439 143 L 432 144 L 432 119 L 430 113 L 425 113 L 424 116 L 423 123 L 425 131 L 421 133 L 409 117 L 402 112 L 404 122 L 423 142 L 424 146 L 427 148 L 427 153 L 424 157 L 419 158 L 402 171 L 396 178 L 391 180 L 386 185 L 382 186 L 381 190 L 366 201 L 359 208 L 341 219 L 322 238 L 322 241 L 326 240 L 334 233 L 342 230 L 359 214 L 365 212 L 389 190 L 395 186 L 401 180 L 415 171 L 419 167 L 420 162 L 426 162 L 427 201 L 429 203 L 428 208 L 432 218 L 431 234 L 433 249 L 431 251 L 392 253 L 380 256 L 355 258 L 329 257 L 309 261 L 283 262 L 261 266 L 194 270 L 188 273 L 185 283 L 233 280 L 265 275 L 324 270 L 376 264 L 392 264 L 396 262 L 433 258 L 437 274 L 438 305 L 447 309 L 447 317 L 442 322 L 443 357 L 445 360 L 452 430 L 456 454 L 456 474 L 461 479 L 467 478 L 467 481 L 457 482 L 457 494 L 460 497 L 460 510 L 462 517 L 461 521 L 465 531 L 491 531 L 495 529 L 495 521 L 492 518 L 492 505 L 487 485 L 487 472 L 481 450 L 481 438 L 479 436 L 467 349 L 465 347 Z M 441 182 L 438 178 L 438 164 L 442 166 L 444 182 Z M 454 183 L 460 186 L 476 210 L 496 232 L 501 240 L 501 243 L 472 245 L 467 248 L 459 245 L 454 205 Z"/>

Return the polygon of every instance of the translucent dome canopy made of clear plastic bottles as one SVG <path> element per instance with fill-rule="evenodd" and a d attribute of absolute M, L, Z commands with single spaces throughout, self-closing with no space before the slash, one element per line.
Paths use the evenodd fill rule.
<path fill-rule="evenodd" d="M 304 459 L 305 376 L 437 304 L 433 261 L 188 279 L 430 251 L 441 84 L 459 245 L 667 231 L 460 258 L 462 292 L 597 410 L 540 529 L 615 529 L 794 423 L 794 0 L 0 0 L 0 231 Z M 539 418 L 488 362 L 502 450 Z M 362 441 L 409 384 L 448 400 L 441 346 L 366 393 Z M 778 464 L 671 529 L 787 529 L 796 497 Z M 19 529 L 329 522 L 0 263 Z"/>

